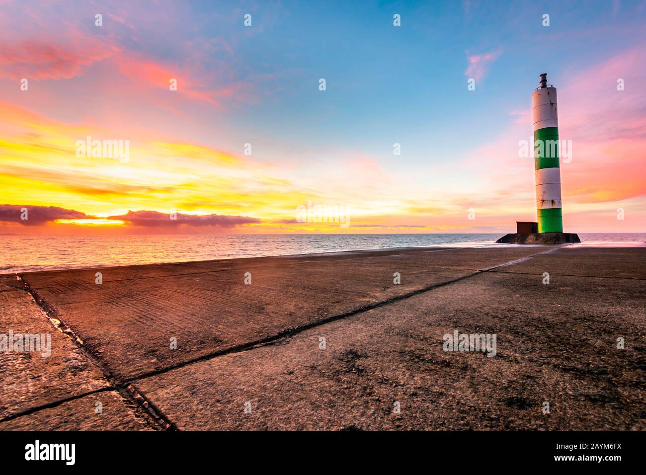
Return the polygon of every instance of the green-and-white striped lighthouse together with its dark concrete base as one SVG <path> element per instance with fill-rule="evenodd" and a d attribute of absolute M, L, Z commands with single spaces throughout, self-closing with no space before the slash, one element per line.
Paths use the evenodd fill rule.
<path fill-rule="evenodd" d="M 559 167 L 559 117 L 556 87 L 541 74 L 540 87 L 532 93 L 534 122 L 534 176 L 536 176 L 537 222 L 516 221 L 516 233 L 496 242 L 505 244 L 572 244 L 581 242 L 576 233 L 563 233 L 561 168 Z"/>

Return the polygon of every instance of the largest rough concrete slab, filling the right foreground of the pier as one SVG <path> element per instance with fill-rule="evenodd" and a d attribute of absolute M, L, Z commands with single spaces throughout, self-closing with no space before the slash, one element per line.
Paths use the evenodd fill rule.
<path fill-rule="evenodd" d="M 485 273 L 135 386 L 183 429 L 644 430 L 645 304 L 639 281 Z M 455 329 L 497 355 L 444 352 Z"/>

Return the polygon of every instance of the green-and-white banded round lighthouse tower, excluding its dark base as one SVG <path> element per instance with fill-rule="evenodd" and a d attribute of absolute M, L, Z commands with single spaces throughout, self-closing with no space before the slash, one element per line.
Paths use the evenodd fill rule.
<path fill-rule="evenodd" d="M 541 74 L 541 87 L 532 94 L 532 118 L 538 232 L 563 233 L 556 87 L 547 85 L 547 72 Z"/>

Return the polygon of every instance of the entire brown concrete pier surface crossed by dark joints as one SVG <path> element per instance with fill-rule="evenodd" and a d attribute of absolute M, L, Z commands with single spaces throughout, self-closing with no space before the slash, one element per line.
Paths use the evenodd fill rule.
<path fill-rule="evenodd" d="M 0 333 L 52 354 L 0 353 L 0 429 L 643 430 L 644 280 L 646 248 L 580 246 L 3 275 Z"/>

